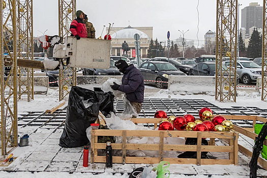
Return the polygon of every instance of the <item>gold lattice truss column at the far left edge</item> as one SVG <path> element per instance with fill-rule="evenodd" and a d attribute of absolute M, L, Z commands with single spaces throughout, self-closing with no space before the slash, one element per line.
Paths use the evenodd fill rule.
<path fill-rule="evenodd" d="M 0 15 L 1 150 L 2 155 L 7 155 L 18 144 L 16 0 L 0 0 L 0 7 L 3 12 Z M 7 53 L 5 57 L 12 61 L 10 72 L 6 71 L 7 77 L 4 53 Z"/>

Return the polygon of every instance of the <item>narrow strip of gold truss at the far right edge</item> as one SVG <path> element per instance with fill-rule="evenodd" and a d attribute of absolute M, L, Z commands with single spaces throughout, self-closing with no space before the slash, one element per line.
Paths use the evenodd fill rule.
<path fill-rule="evenodd" d="M 267 1 L 263 0 L 261 100 L 267 101 Z"/>

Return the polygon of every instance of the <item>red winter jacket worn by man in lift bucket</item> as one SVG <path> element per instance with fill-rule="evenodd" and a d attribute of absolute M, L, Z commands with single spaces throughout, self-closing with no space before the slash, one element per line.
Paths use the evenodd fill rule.
<path fill-rule="evenodd" d="M 70 31 L 73 36 L 79 35 L 81 38 L 87 38 L 85 23 L 80 18 L 76 18 L 71 22 Z"/>

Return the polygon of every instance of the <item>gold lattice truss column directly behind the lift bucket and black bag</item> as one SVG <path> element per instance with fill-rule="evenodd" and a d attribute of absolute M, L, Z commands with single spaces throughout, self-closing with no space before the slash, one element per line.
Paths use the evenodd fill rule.
<path fill-rule="evenodd" d="M 58 0 L 58 31 L 61 37 L 70 35 L 70 24 L 76 15 L 76 0 Z M 60 101 L 76 86 L 76 68 L 66 67 L 59 72 Z"/>

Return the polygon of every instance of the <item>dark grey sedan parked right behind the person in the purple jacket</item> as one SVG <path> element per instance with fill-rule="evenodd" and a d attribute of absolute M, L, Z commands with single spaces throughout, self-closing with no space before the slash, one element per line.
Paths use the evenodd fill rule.
<path fill-rule="evenodd" d="M 142 63 L 138 68 L 143 75 L 146 83 L 155 84 L 158 88 L 167 86 L 167 83 L 161 81 L 168 81 L 169 75 L 186 75 L 185 73 L 176 69 L 173 65 L 167 62 L 149 61 Z M 158 82 L 155 82 L 158 81 Z"/>

